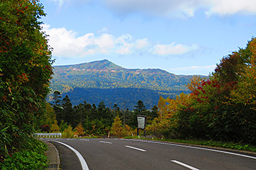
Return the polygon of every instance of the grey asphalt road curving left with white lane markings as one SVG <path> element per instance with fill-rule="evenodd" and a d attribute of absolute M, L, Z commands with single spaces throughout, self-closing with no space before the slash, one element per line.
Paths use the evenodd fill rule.
<path fill-rule="evenodd" d="M 68 147 L 60 151 L 62 168 L 82 169 Z M 173 145 L 167 142 L 123 139 L 58 139 L 76 149 L 90 170 L 94 169 L 256 169 L 256 154 Z M 69 166 L 70 164 L 73 164 Z"/>

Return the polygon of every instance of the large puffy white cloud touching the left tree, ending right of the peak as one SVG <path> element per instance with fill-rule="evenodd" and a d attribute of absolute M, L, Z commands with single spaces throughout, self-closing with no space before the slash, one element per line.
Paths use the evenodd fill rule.
<path fill-rule="evenodd" d="M 149 45 L 146 39 L 135 42 L 129 34 L 114 38 L 110 34 L 95 36 L 93 33 L 78 37 L 74 30 L 65 28 L 50 28 L 43 25 L 43 31 L 49 35 L 49 45 L 53 47 L 53 55 L 58 57 L 83 57 L 86 55 L 112 53 L 119 55 L 132 54 L 135 50 Z"/>

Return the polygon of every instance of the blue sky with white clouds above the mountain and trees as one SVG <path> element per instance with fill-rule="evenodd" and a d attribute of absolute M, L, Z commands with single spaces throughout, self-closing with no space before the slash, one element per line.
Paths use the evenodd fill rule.
<path fill-rule="evenodd" d="M 54 65 L 209 75 L 255 37 L 255 0 L 41 0 Z"/>

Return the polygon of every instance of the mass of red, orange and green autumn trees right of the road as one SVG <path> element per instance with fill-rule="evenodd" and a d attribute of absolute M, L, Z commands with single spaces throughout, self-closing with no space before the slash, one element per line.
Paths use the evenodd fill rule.
<path fill-rule="evenodd" d="M 159 113 L 167 108 L 166 118 L 171 118 L 167 129 L 173 135 L 169 137 L 255 145 L 255 56 L 256 39 L 252 38 L 245 49 L 223 57 L 208 79 L 191 79 L 191 94 L 185 101 L 176 99 L 176 108 L 171 107 L 173 102 L 160 108 Z"/>

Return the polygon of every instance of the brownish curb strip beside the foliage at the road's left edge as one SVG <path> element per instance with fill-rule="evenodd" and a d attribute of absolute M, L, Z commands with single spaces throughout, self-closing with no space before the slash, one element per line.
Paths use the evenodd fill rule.
<path fill-rule="evenodd" d="M 48 157 L 49 163 L 47 170 L 60 170 L 60 155 L 58 152 L 58 149 L 56 147 L 47 141 L 43 141 L 48 145 L 48 150 L 46 151 L 46 155 Z"/>

